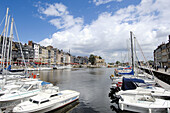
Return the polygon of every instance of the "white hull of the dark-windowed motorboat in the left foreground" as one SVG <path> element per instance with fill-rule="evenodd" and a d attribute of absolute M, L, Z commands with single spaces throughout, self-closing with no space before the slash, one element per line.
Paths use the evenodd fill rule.
<path fill-rule="evenodd" d="M 70 92 L 70 94 L 68 94 L 67 92 Z M 45 104 L 31 104 L 29 101 L 21 103 L 13 109 L 13 112 L 14 113 L 33 113 L 33 112 L 42 113 L 42 112 L 56 110 L 58 108 L 61 108 L 63 106 L 66 106 L 67 104 L 70 104 L 78 100 L 80 95 L 80 93 L 78 92 L 72 91 L 71 93 L 71 91 L 69 90 L 61 91 L 61 94 L 63 95 L 58 96 L 56 99 L 52 99 Z"/>

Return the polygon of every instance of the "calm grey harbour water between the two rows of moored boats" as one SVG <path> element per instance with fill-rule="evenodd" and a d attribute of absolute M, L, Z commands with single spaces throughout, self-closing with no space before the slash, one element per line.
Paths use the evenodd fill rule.
<path fill-rule="evenodd" d="M 69 113 L 114 113 L 108 97 L 111 85 L 109 76 L 113 71 L 113 68 L 41 71 L 40 78 L 59 86 L 60 90 L 80 92 L 79 102 L 69 105 L 72 108 L 62 108 L 53 113 L 66 110 Z"/>

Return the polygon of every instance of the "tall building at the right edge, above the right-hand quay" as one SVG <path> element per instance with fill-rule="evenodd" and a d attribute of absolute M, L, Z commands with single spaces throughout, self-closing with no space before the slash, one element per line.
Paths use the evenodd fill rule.
<path fill-rule="evenodd" d="M 170 67 L 170 35 L 168 43 L 162 43 L 154 50 L 154 65 Z"/>

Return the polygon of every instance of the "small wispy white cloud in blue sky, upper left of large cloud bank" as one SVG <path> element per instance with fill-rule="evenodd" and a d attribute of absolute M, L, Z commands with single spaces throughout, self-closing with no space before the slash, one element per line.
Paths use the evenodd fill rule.
<path fill-rule="evenodd" d="M 45 19 L 44 15 L 53 17 L 53 19 L 49 20 L 49 23 L 56 26 L 58 29 L 68 29 L 74 25 L 83 24 L 83 18 L 74 18 L 69 14 L 67 7 L 62 3 L 46 4 L 45 8 L 42 6 L 37 7 L 38 12 L 42 14 L 40 15 L 40 18 Z"/>

